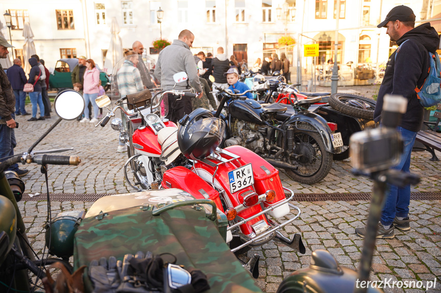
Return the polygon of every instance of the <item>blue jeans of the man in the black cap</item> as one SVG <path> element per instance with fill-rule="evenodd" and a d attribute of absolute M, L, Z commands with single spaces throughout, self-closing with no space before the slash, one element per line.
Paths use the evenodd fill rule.
<path fill-rule="evenodd" d="M 404 150 L 401 155 L 400 163 L 393 167 L 396 170 L 402 170 L 403 172 L 410 173 L 410 157 L 412 153 L 412 147 L 415 142 L 416 132 L 398 127 L 404 142 Z M 383 226 L 392 225 L 393 218 L 407 217 L 409 214 L 410 204 L 410 185 L 406 187 L 398 187 L 396 185 L 389 185 L 389 194 L 384 202 L 383 210 L 381 213 L 380 222 Z"/>

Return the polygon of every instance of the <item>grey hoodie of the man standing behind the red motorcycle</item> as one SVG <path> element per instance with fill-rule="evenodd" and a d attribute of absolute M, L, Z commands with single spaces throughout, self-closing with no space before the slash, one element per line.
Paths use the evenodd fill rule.
<path fill-rule="evenodd" d="M 175 85 L 173 75 L 181 71 L 187 72 L 191 86 L 197 92 L 201 92 L 202 86 L 199 82 L 195 59 L 190 47 L 183 41 L 173 40 L 171 45 L 165 47 L 159 53 L 155 67 L 155 77 L 160 81 L 163 89 L 169 90 L 173 89 Z M 178 83 L 175 89 L 187 89 L 187 81 Z"/>

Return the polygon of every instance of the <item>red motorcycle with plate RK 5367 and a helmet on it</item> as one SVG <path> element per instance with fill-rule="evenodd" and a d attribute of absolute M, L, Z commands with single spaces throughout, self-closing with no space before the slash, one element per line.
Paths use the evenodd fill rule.
<path fill-rule="evenodd" d="M 177 75 L 181 73 L 184 74 L 180 72 Z M 177 76 L 175 81 L 185 79 L 186 75 L 184 78 Z M 146 89 L 135 94 L 148 96 L 150 92 Z M 124 139 L 135 150 L 135 155 L 129 158 L 126 167 L 136 157 L 134 174 L 144 177 L 142 182 L 130 184 L 137 190 L 149 190 L 157 185 L 164 189 L 179 188 L 196 199 L 213 200 L 218 210 L 228 219 L 226 238 L 231 251 L 236 254 L 245 253 L 250 247 L 262 245 L 272 239 L 305 253 L 299 234 L 295 234 L 291 240 L 281 232 L 283 227 L 299 217 L 300 209 L 289 203 L 294 194 L 292 190 L 282 186 L 278 170 L 240 146 L 217 148 L 225 125 L 208 110 L 193 111 L 180 121 L 178 129 L 175 124 L 163 118 L 168 112 L 168 94 L 183 96 L 191 93 L 159 91 L 153 97 L 145 99 L 144 106 L 133 104 L 132 111 L 124 109 L 124 103 L 120 102 L 120 105 L 109 109 L 100 122 L 104 127 L 110 117 L 115 115 L 115 111 L 121 109 L 128 128 L 135 129 L 131 141 Z M 127 95 L 125 99 L 130 101 L 133 96 Z M 110 100 L 107 96 L 102 96 L 97 104 L 104 107 L 110 104 Z M 111 124 L 113 129 L 122 132 L 122 136 L 128 135 L 121 119 L 115 118 Z M 187 134 L 187 137 L 181 137 L 183 134 Z M 179 145 L 201 134 L 206 139 L 201 139 L 202 144 L 192 151 Z M 151 177 L 145 176 L 147 173 Z M 126 179 L 127 175 L 126 173 Z M 285 192 L 289 194 L 288 197 Z M 157 202 L 160 204 L 172 200 L 175 199 L 161 196 Z M 275 223 L 269 217 L 283 218 L 289 213 L 294 216 L 281 224 Z"/>

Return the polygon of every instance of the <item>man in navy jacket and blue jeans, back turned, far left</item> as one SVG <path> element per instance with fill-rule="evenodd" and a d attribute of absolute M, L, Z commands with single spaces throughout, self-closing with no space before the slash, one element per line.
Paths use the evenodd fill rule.
<path fill-rule="evenodd" d="M 6 75 L 15 94 L 15 115 L 30 115 L 25 110 L 26 92 L 23 91 L 23 87 L 28 82 L 28 79 L 26 78 L 25 70 L 21 68 L 20 59 L 14 59 L 14 65 L 8 68 Z"/>

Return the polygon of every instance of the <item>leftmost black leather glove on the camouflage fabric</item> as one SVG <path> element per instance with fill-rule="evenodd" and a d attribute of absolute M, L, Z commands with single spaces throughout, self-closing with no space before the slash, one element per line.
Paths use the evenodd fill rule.
<path fill-rule="evenodd" d="M 120 261 L 121 262 L 121 261 Z M 89 277 L 94 283 L 94 293 L 115 293 L 120 285 L 117 259 L 114 256 L 92 260 L 89 265 Z"/>

